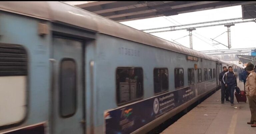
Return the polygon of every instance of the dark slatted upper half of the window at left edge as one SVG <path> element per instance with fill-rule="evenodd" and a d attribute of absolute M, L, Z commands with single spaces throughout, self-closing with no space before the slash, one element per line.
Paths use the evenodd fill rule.
<path fill-rule="evenodd" d="M 26 76 L 27 62 L 22 46 L 0 43 L 0 76 Z"/>

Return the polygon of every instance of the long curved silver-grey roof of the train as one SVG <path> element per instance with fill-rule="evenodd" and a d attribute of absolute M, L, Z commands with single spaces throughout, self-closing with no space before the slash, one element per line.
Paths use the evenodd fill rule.
<path fill-rule="evenodd" d="M 63 22 L 134 42 L 188 54 L 204 59 L 218 59 L 176 43 L 147 34 L 124 24 L 58 1 L 1 1 L 0 10 Z"/>

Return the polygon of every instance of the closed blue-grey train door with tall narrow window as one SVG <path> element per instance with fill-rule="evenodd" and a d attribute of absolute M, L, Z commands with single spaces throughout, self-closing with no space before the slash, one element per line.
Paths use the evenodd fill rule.
<path fill-rule="evenodd" d="M 52 134 L 83 134 L 83 42 L 53 38 Z"/>

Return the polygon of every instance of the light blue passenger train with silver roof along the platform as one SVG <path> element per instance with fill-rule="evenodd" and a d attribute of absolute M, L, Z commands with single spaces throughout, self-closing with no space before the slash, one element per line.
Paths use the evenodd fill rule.
<path fill-rule="evenodd" d="M 0 2 L 1 134 L 143 134 L 240 67 L 57 1 Z"/>

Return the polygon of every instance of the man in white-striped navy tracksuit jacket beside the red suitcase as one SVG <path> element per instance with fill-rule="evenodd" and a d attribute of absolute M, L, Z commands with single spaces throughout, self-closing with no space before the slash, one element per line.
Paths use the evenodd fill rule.
<path fill-rule="evenodd" d="M 236 74 L 233 72 L 232 66 L 228 67 L 228 72 L 223 76 L 223 82 L 230 92 L 230 103 L 234 106 L 234 91 L 237 86 Z"/>

